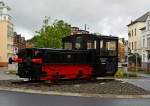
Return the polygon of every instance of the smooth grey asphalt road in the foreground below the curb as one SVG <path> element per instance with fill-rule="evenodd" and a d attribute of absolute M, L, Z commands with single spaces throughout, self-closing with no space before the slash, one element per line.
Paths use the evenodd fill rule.
<path fill-rule="evenodd" d="M 0 91 L 0 106 L 150 106 L 150 99 L 102 99 Z"/>

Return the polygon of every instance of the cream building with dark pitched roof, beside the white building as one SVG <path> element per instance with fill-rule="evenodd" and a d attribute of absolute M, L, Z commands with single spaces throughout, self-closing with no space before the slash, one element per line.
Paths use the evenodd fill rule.
<path fill-rule="evenodd" d="M 142 53 L 142 44 L 141 44 L 141 38 L 142 38 L 142 31 L 141 28 L 145 27 L 146 25 L 146 19 L 148 17 L 148 13 L 142 15 L 135 21 L 131 21 L 130 24 L 128 24 L 128 46 L 131 51 L 131 53 Z"/>

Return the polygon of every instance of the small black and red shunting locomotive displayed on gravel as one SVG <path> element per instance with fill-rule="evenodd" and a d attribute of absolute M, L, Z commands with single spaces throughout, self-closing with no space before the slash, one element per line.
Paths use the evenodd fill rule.
<path fill-rule="evenodd" d="M 62 49 L 26 48 L 18 53 L 18 73 L 30 80 L 90 79 L 113 76 L 118 37 L 79 34 L 62 39 Z"/>

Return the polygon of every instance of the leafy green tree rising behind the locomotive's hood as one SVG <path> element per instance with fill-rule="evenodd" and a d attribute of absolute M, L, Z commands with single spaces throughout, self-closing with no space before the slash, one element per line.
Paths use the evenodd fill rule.
<path fill-rule="evenodd" d="M 49 18 L 45 17 L 43 26 L 31 39 L 35 47 L 61 48 L 62 38 L 70 35 L 71 26 L 63 20 L 55 20 L 49 25 Z"/>

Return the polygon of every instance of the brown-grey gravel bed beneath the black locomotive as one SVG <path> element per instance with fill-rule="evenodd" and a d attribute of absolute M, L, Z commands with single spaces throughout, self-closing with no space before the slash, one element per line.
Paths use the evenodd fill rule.
<path fill-rule="evenodd" d="M 0 87 L 33 89 L 41 91 L 62 91 L 88 94 L 119 94 L 119 95 L 148 95 L 149 91 L 136 87 L 127 82 L 114 79 L 100 79 L 95 81 L 75 80 L 48 82 L 23 82 L 15 80 L 0 80 Z"/>

